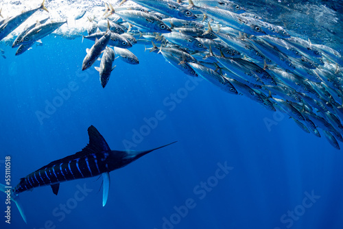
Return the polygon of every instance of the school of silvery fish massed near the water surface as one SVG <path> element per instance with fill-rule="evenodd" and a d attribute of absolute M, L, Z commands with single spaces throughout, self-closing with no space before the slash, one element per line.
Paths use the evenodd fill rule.
<path fill-rule="evenodd" d="M 122 6 L 126 1 L 117 7 L 105 3 L 104 14 L 88 16 L 88 35 L 82 36 L 82 41 L 94 41 L 86 49 L 82 71 L 101 60 L 95 69 L 103 88 L 115 59 L 139 64 L 128 49 L 150 46 L 145 50 L 161 54 L 183 73 L 283 112 L 303 131 L 324 134 L 340 149 L 343 58 L 338 51 L 291 36 L 286 28 L 263 21 L 233 1 L 128 0 L 135 4 Z M 38 8 L 0 19 L 0 40 L 38 10 L 49 12 L 43 1 Z M 73 20 L 85 14 L 82 10 Z M 18 47 L 16 55 L 67 23 L 48 20 L 37 19 L 23 29 L 12 45 Z M 5 58 L 2 50 L 1 56 Z"/>

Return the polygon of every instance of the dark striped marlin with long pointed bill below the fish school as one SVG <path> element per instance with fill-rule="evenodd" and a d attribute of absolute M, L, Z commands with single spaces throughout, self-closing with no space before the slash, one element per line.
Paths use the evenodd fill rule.
<path fill-rule="evenodd" d="M 25 178 L 20 179 L 19 184 L 14 189 L 8 189 L 4 184 L 0 184 L 0 191 L 5 193 L 10 191 L 11 200 L 16 204 L 25 223 L 27 222 L 26 217 L 19 202 L 19 194 L 23 191 L 32 190 L 38 186 L 50 185 L 53 193 L 57 195 L 61 182 L 102 175 L 104 179 L 102 206 L 105 206 L 110 189 L 110 171 L 125 167 L 156 149 L 176 143 L 175 141 L 146 151 L 118 151 L 110 149 L 104 137 L 93 125 L 88 128 L 88 136 L 89 143 L 81 152 L 54 160 L 48 165 L 29 173 Z"/>

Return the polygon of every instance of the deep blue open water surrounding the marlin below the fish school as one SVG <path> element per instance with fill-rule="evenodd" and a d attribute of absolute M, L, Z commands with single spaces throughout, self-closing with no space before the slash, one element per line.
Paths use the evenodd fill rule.
<path fill-rule="evenodd" d="M 50 35 L 21 56 L 1 44 L 0 174 L 12 186 L 52 160 L 79 152 L 94 125 L 111 149 L 158 149 L 102 178 L 21 193 L 0 228 L 343 228 L 342 153 L 286 115 L 190 78 L 161 55 L 117 67 L 106 88 L 81 71 L 93 42 Z M 335 44 L 337 45 L 337 44 Z M 95 63 L 99 64 L 99 62 Z M 137 134 L 138 133 L 138 134 Z"/>

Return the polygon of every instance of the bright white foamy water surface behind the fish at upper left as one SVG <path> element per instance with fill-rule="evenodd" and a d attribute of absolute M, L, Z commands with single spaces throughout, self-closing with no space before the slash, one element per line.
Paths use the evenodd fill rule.
<path fill-rule="evenodd" d="M 1 15 L 6 18 L 20 14 L 23 11 L 32 10 L 37 8 L 43 1 L 42 0 L 1 0 L 0 8 Z M 29 17 L 23 24 L 16 28 L 9 36 L 5 37 L 3 41 L 9 42 L 13 40 L 13 37 L 18 35 L 25 27 L 25 25 L 32 25 L 36 21 L 46 19 L 47 16 L 51 21 L 63 21 L 67 19 L 68 23 L 62 25 L 57 29 L 54 34 L 63 36 L 64 38 L 73 39 L 78 36 L 82 36 L 82 32 L 89 26 L 87 17 L 91 19 L 102 17 L 105 10 L 104 3 L 111 3 L 113 6 L 119 5 L 120 1 L 99 1 L 99 0 L 76 0 L 76 1 L 51 1 L 45 0 L 45 7 L 49 10 L 49 13 L 45 10 L 38 10 L 32 16 Z M 124 5 L 134 5 L 135 3 L 126 2 Z M 86 10 L 86 14 L 82 19 L 75 21 L 74 17 L 82 10 Z"/>

